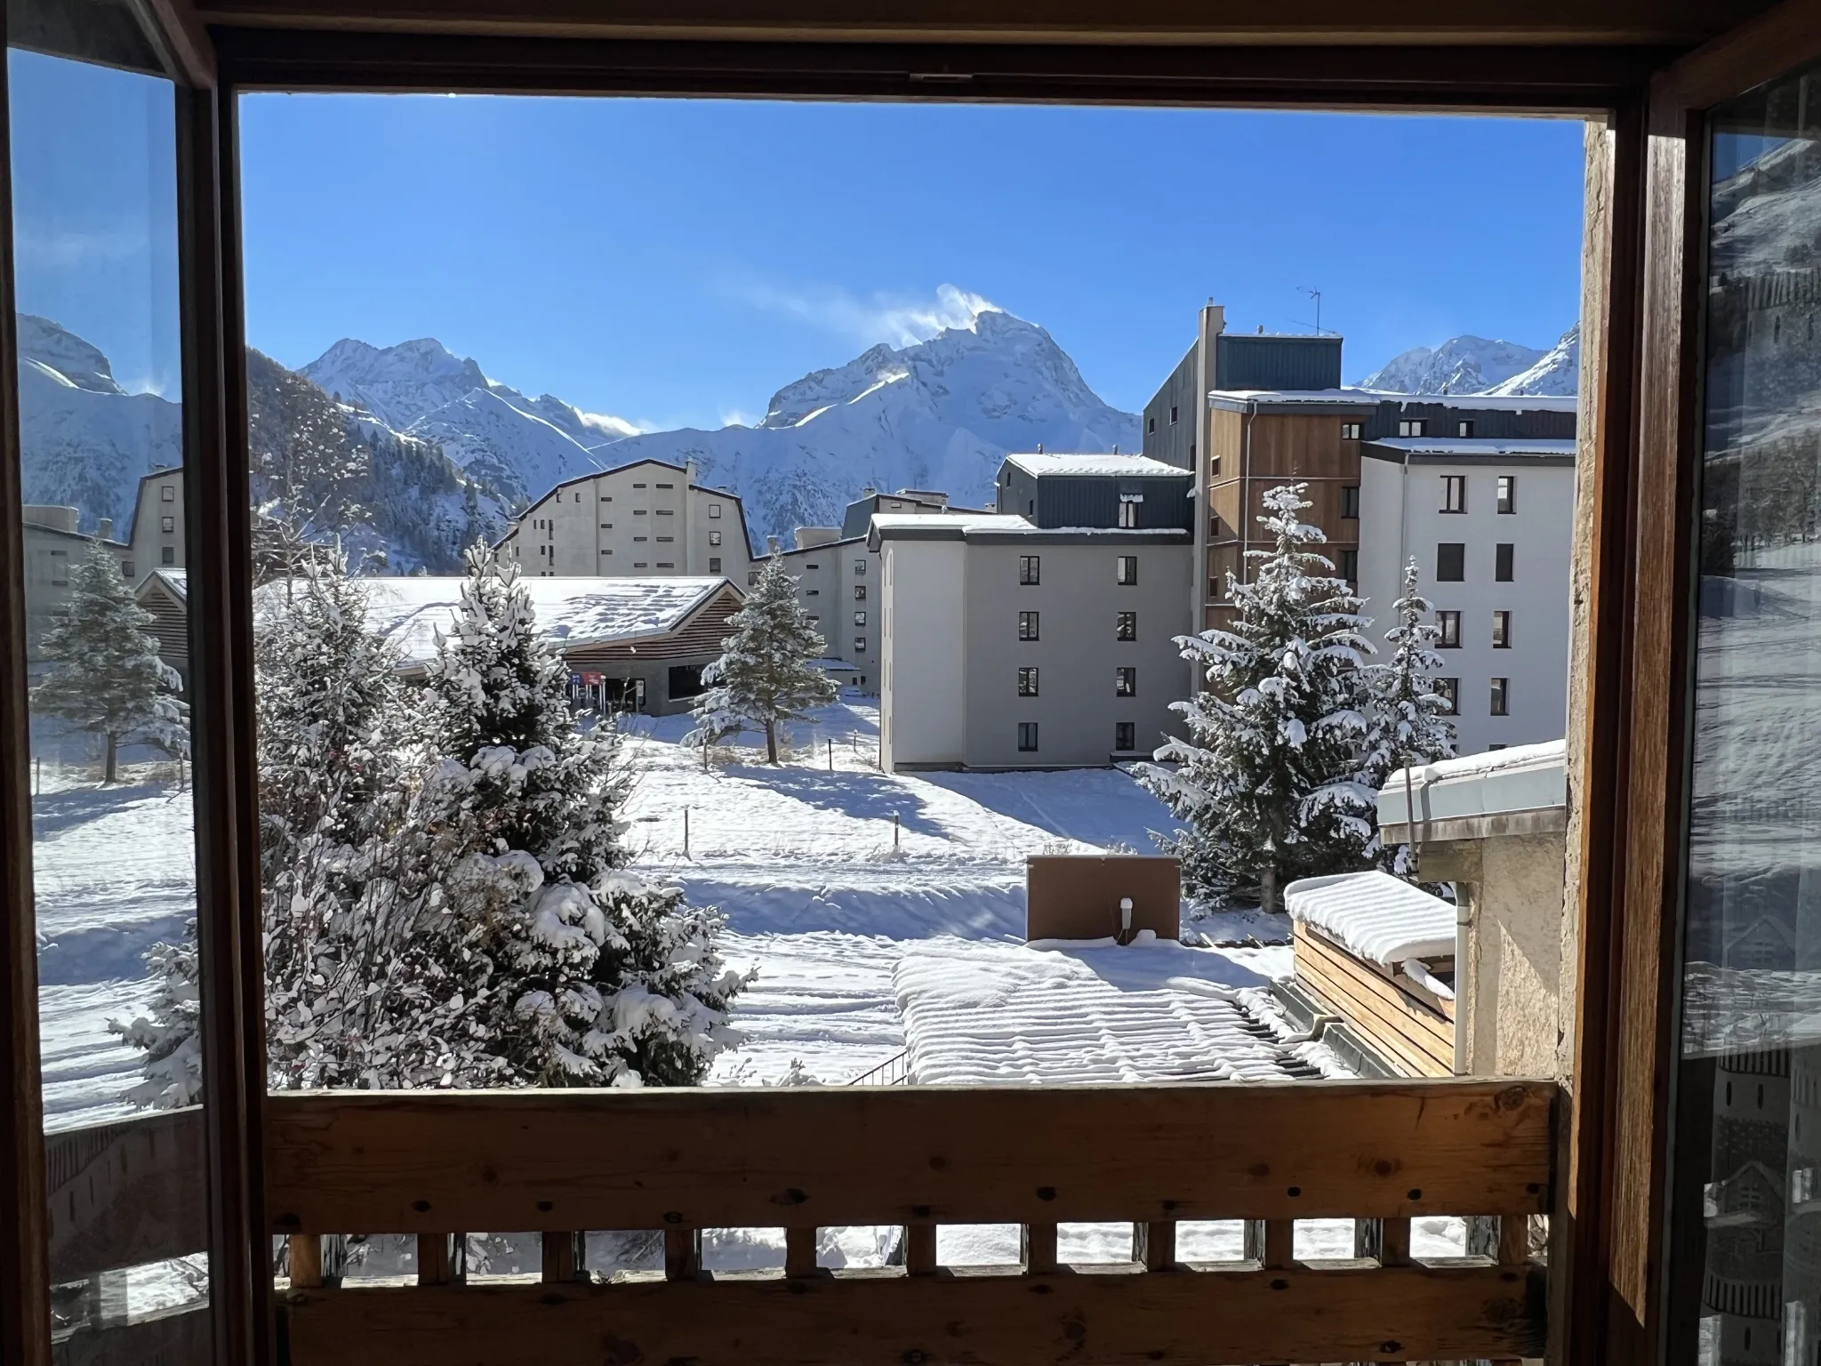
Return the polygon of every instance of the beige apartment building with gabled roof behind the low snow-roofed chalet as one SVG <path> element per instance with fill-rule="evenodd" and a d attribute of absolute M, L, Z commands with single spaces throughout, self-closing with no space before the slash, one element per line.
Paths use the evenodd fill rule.
<path fill-rule="evenodd" d="M 756 556 L 738 494 L 696 483 L 694 464 L 636 461 L 566 479 L 499 545 L 528 577 L 723 576 L 747 581 Z"/>

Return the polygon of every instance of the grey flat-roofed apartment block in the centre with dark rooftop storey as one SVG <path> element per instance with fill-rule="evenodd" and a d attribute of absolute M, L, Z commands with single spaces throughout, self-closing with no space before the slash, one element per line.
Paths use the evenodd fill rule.
<path fill-rule="evenodd" d="M 1087 472 L 1118 461 L 1127 468 Z M 1002 499 L 1018 490 L 1029 512 L 872 517 L 887 772 L 1100 767 L 1178 732 L 1191 475 L 1156 464 L 1014 455 Z M 1142 503 L 1122 501 L 1129 484 Z M 1094 505 L 1100 521 L 1083 521 Z M 1122 508 L 1145 523 L 1120 525 Z"/>

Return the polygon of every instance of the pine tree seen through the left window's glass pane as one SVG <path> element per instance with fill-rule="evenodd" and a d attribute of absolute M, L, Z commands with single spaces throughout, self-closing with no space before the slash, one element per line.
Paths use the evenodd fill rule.
<path fill-rule="evenodd" d="M 100 541 L 69 570 L 69 605 L 38 645 L 51 670 L 31 692 L 36 712 L 106 745 L 102 783 L 120 770 L 120 745 L 142 741 L 168 754 L 189 752 L 182 679 L 146 634 L 151 612 L 133 601 L 120 561 Z"/>

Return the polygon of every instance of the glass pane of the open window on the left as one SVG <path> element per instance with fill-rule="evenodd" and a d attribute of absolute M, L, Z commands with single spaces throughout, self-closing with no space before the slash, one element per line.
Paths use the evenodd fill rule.
<path fill-rule="evenodd" d="M 15 35 L 44 33 L 31 9 Z M 7 80 L 51 1313 L 107 1335 L 84 1359 L 198 1361 L 175 89 L 18 47 Z"/>

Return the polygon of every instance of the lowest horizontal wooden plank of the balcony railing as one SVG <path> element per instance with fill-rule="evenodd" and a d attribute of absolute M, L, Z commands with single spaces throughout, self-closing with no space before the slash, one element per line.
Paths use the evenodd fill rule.
<path fill-rule="evenodd" d="M 1537 1269 L 1173 1275 L 830 1273 L 626 1284 L 297 1290 L 293 1366 L 739 1361 L 745 1366 L 1470 1361 L 1542 1353 Z M 603 1348 L 606 1344 L 606 1348 Z"/>

